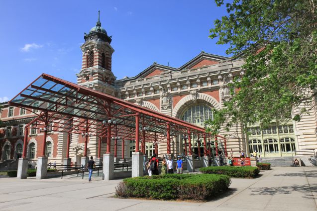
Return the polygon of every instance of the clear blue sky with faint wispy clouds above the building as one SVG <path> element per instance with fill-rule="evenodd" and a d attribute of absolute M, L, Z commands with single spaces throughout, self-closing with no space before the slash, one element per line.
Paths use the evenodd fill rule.
<path fill-rule="evenodd" d="M 157 62 L 180 67 L 202 50 L 225 56 L 208 38 L 225 14 L 213 0 L 0 0 L 0 102 L 41 73 L 76 82 L 84 32 L 112 35 L 112 72 L 132 77 Z"/>

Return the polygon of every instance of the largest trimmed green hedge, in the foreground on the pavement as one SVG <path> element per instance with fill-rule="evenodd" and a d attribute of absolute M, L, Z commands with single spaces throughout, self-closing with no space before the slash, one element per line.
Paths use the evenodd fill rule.
<path fill-rule="evenodd" d="M 168 174 L 127 178 L 115 190 L 118 197 L 206 200 L 227 190 L 230 183 L 225 175 Z"/>

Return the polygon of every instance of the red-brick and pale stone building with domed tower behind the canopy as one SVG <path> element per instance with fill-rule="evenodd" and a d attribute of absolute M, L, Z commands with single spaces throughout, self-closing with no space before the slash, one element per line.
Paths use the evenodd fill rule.
<path fill-rule="evenodd" d="M 82 68 L 77 76 L 77 84 L 103 92 L 116 98 L 143 106 L 163 114 L 176 117 L 189 123 L 204 127 L 207 119 L 213 118 L 213 109 L 223 107 L 223 102 L 231 99 L 228 83 L 234 78 L 239 81 L 244 76 L 241 66 L 243 57 L 224 57 L 202 51 L 192 60 L 179 68 L 153 63 L 135 77 L 117 80 L 111 70 L 111 36 L 101 26 L 100 20 L 89 33 L 84 35 L 82 50 Z M 54 99 L 52 99 L 54 101 Z M 34 119 L 39 112 L 8 103 L 2 103 L 0 125 L 0 160 L 2 163 L 21 157 L 23 149 L 24 126 Z M 38 105 L 39 106 L 39 105 Z M 47 105 L 48 107 L 50 105 Z M 35 103 L 36 107 L 36 103 Z M 257 125 L 243 132 L 242 125 L 235 125 L 229 132 L 223 131 L 226 140 L 219 141 L 219 148 L 232 148 L 235 155 L 244 150 L 247 155 L 257 151 L 262 157 L 292 156 L 298 149 L 317 149 L 317 112 L 316 105 L 300 122 L 272 124 L 261 129 Z M 54 125 L 48 125 L 50 127 Z M 66 155 L 67 134 L 50 131 L 47 128 L 45 155 L 49 162 L 61 164 Z M 36 123 L 28 130 L 27 158 L 30 165 L 36 165 L 41 140 L 42 128 Z M 192 134 L 191 146 L 194 154 L 203 153 L 202 137 Z M 88 156 L 98 156 L 97 136 L 88 138 Z M 81 134 L 72 134 L 69 156 L 73 164 L 81 164 L 84 155 L 85 138 Z M 115 157 L 131 158 L 135 151 L 135 140 L 129 138 L 116 140 Z M 210 153 L 214 153 L 214 138 L 209 139 Z M 171 140 L 171 152 L 174 155 L 188 151 L 184 140 L 175 137 Z M 156 148 L 158 154 L 167 153 L 166 141 L 146 142 L 146 154 L 151 156 Z M 101 143 L 101 151 L 106 150 L 106 140 Z M 111 145 L 111 152 L 114 145 Z"/>

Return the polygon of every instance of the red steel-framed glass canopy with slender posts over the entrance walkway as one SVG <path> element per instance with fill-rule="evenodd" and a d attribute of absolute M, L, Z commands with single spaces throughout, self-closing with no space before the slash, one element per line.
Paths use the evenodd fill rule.
<path fill-rule="evenodd" d="M 106 153 L 110 153 L 110 142 L 113 136 L 119 136 L 123 140 L 135 139 L 135 151 L 139 151 L 139 132 L 143 127 L 147 127 L 145 141 L 156 143 L 167 140 L 170 144 L 171 137 L 176 137 L 185 130 L 192 133 L 205 133 L 205 129 L 197 125 L 47 74 L 39 76 L 9 101 L 9 105 L 30 109 L 37 115 L 25 130 L 22 157 L 26 156 L 29 128 L 42 128 L 45 133 L 41 154 L 45 152 L 47 131 L 67 132 L 67 157 L 71 133 L 85 136 L 84 156 L 87 156 L 87 143 L 90 136 L 105 136 Z M 144 134 L 142 138 L 144 140 Z M 171 153 L 170 146 L 168 146 L 168 153 Z"/>

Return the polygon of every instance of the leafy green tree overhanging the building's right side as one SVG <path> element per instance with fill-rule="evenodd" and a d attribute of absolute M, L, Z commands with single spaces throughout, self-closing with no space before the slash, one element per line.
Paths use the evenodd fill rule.
<path fill-rule="evenodd" d="M 226 8 L 210 37 L 229 44 L 227 54 L 245 58 L 245 75 L 230 84 L 233 98 L 214 111 L 208 131 L 299 121 L 316 106 L 317 0 L 233 0 Z"/>

